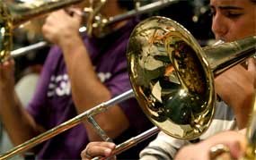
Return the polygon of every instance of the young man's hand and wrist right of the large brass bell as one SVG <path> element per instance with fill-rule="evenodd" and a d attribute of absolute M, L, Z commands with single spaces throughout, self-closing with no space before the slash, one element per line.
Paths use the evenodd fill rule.
<path fill-rule="evenodd" d="M 254 59 L 248 60 L 247 69 L 241 64 L 218 75 L 215 79 L 216 93 L 231 106 L 239 128 L 244 128 L 251 113 L 256 87 Z"/>

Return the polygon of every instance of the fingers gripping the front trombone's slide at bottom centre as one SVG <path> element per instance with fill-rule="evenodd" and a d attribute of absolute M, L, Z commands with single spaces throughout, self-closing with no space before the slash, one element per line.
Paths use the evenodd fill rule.
<path fill-rule="evenodd" d="M 96 156 L 110 156 L 116 145 L 111 142 L 90 142 L 81 153 L 83 160 L 93 159 Z"/>

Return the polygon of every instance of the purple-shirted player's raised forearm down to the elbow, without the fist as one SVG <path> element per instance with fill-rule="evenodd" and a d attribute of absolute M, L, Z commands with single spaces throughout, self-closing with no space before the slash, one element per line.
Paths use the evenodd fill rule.
<path fill-rule="evenodd" d="M 78 114 L 109 100 L 110 90 L 102 84 L 94 72 L 82 39 L 74 38 L 63 45 L 62 49 Z M 128 120 L 119 106 L 112 106 L 108 112 L 95 116 L 95 120 L 111 138 L 117 137 L 128 128 Z M 98 135 L 87 124 L 88 122 L 85 122 L 89 138 L 98 140 Z"/>

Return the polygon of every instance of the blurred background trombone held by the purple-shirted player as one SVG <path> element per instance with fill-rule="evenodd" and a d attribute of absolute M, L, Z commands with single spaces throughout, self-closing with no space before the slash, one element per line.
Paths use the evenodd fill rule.
<path fill-rule="evenodd" d="M 86 17 L 86 26 L 80 28 L 81 32 L 87 32 L 88 35 L 92 35 L 94 33 L 94 36 L 96 37 L 102 37 L 110 32 L 110 25 L 114 24 L 119 21 L 124 21 L 127 20 L 131 17 L 135 17 L 137 15 L 143 14 L 143 13 L 151 13 L 156 10 L 159 10 L 165 6 L 175 4 L 179 2 L 180 0 L 159 0 L 151 4 L 146 4 L 143 6 L 140 6 L 137 9 L 133 9 L 131 11 L 128 11 L 127 13 L 122 13 L 119 15 L 115 15 L 110 18 L 105 18 L 102 17 L 99 13 L 93 13 L 93 11 L 99 11 L 99 9 L 102 7 L 102 5 L 105 3 L 105 1 L 100 1 L 102 2 L 99 3 L 100 6 L 97 6 L 99 9 L 93 9 L 92 7 L 84 7 L 84 16 Z M 88 4 L 90 5 L 90 4 Z M 93 17 L 93 14 L 94 17 Z M 89 18 L 91 17 L 91 18 Z M 88 27 L 87 27 L 88 26 Z M 38 27 L 35 27 L 38 28 Z M 96 34 L 96 35 L 95 35 Z M 11 52 L 12 57 L 17 57 L 21 55 L 26 55 L 30 53 L 31 51 L 40 49 L 42 47 L 49 46 L 49 43 L 46 41 L 40 41 L 39 43 L 33 44 L 31 46 L 24 46 L 22 48 L 13 50 Z"/>

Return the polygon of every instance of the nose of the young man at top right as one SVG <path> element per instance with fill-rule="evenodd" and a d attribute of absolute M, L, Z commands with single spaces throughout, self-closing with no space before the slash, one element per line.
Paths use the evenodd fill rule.
<path fill-rule="evenodd" d="M 216 13 L 216 15 L 213 16 L 212 31 L 214 32 L 216 39 L 225 38 L 225 35 L 228 32 L 228 22 L 220 13 Z"/>

